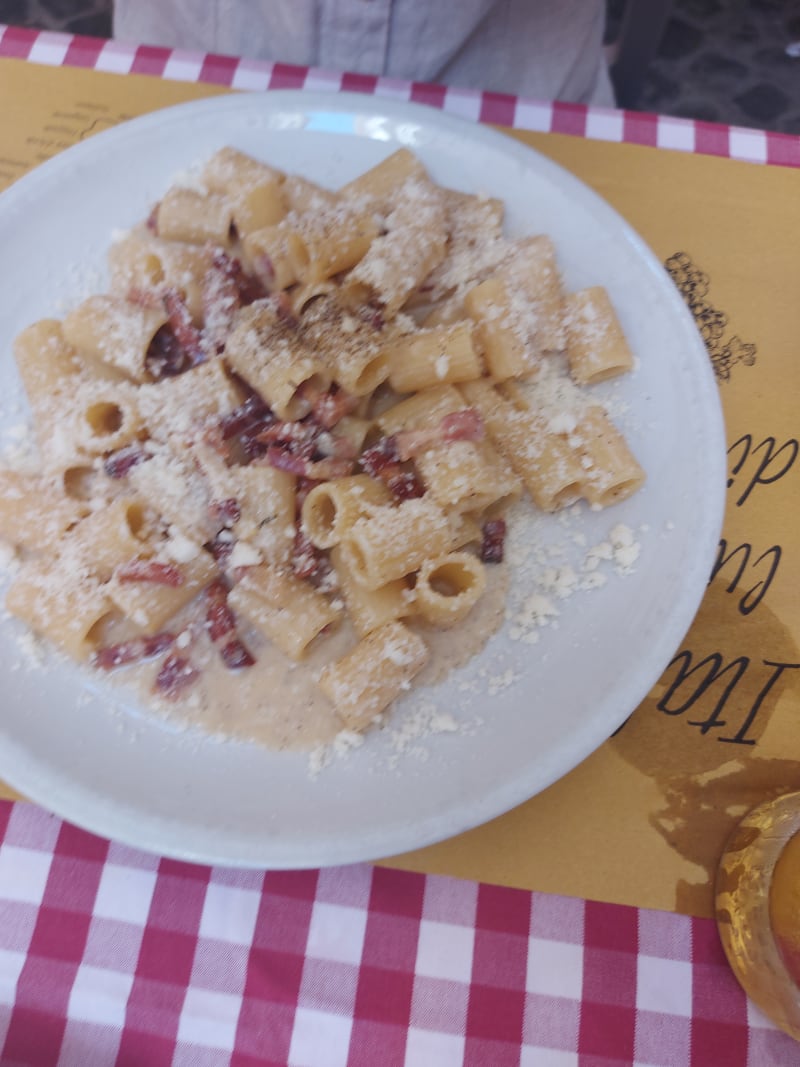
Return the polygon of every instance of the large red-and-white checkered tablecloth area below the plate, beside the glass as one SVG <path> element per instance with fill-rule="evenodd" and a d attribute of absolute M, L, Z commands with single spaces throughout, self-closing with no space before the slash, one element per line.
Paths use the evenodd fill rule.
<path fill-rule="evenodd" d="M 714 923 L 159 859 L 0 802 L 4 1067 L 796 1067 Z"/>

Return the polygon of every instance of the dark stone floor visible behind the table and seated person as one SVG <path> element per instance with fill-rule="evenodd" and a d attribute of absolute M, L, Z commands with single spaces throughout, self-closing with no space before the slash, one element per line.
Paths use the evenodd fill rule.
<path fill-rule="evenodd" d="M 608 0 L 609 37 L 624 6 Z M 0 22 L 109 36 L 111 0 L 0 0 Z M 800 133 L 796 42 L 800 0 L 675 0 L 637 107 Z"/>

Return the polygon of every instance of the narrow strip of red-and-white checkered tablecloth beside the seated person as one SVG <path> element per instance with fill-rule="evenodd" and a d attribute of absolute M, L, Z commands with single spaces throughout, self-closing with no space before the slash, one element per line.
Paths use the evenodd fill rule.
<path fill-rule="evenodd" d="M 176 81 L 208 82 L 261 92 L 270 89 L 350 91 L 415 100 L 475 122 L 539 132 L 572 133 L 602 141 L 627 142 L 725 156 L 756 163 L 800 166 L 800 138 L 741 129 L 690 118 L 634 111 L 553 103 L 503 93 L 339 74 L 230 55 L 185 52 L 131 45 L 99 37 L 46 33 L 0 25 L 0 58 L 15 57 L 53 66 L 80 66 L 111 74 L 146 74 Z"/>

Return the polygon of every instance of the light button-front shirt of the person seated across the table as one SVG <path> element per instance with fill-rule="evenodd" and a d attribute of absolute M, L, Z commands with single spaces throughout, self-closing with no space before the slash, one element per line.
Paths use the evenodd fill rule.
<path fill-rule="evenodd" d="M 604 0 L 115 0 L 138 44 L 613 105 Z"/>

